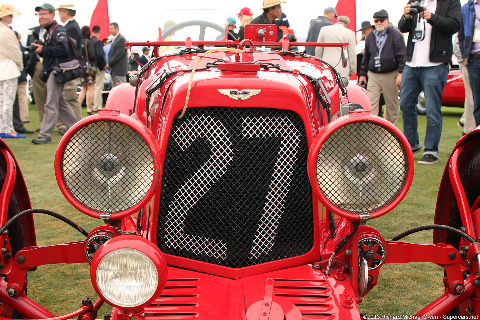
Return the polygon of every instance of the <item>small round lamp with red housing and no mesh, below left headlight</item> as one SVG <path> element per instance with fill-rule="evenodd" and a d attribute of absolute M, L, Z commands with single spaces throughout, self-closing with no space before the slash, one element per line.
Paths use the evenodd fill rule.
<path fill-rule="evenodd" d="M 167 265 L 150 241 L 120 236 L 98 249 L 90 276 L 102 299 L 118 308 L 133 309 L 159 296 L 167 281 Z"/>

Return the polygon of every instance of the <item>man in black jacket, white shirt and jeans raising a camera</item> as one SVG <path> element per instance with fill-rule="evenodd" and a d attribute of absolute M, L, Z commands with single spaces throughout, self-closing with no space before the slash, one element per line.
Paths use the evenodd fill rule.
<path fill-rule="evenodd" d="M 442 93 L 449 65 L 452 64 L 452 36 L 460 29 L 462 13 L 459 0 L 424 0 L 421 9 L 415 10 L 411 8 L 413 2 L 408 1 L 398 22 L 401 32 L 409 32 L 405 55 L 407 62 L 400 88 L 400 109 L 404 134 L 413 153 L 420 152 L 422 145 L 417 131 L 416 105 L 418 95 L 423 90 L 427 130 L 425 150 L 418 163 L 431 165 L 438 162 L 443 122 Z"/>

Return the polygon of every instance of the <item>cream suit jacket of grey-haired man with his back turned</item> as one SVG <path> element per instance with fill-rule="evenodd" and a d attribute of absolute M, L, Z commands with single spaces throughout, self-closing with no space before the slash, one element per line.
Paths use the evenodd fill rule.
<path fill-rule="evenodd" d="M 347 42 L 348 46 L 348 63 L 343 68 L 339 63 L 342 55 L 340 47 L 317 47 L 315 49 L 315 57 L 323 59 L 325 62 L 335 67 L 342 77 L 350 78 L 350 72 L 357 72 L 357 56 L 355 55 L 355 32 L 346 28 L 343 24 L 325 25 L 320 29 L 317 42 Z"/>

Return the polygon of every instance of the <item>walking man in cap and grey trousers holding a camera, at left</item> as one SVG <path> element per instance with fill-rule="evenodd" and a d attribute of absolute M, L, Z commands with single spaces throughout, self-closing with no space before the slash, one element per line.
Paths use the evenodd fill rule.
<path fill-rule="evenodd" d="M 33 139 L 32 142 L 46 144 L 51 142 L 57 117 L 60 116 L 68 128 L 77 122 L 77 117 L 63 93 L 65 83 L 56 82 L 54 72 L 52 72 L 56 64 L 67 58 L 68 40 L 65 27 L 55 21 L 55 8 L 51 4 L 44 3 L 36 7 L 35 11 L 38 12 L 38 21 L 45 32 L 42 37 L 42 45 L 35 42 L 31 45 L 36 47 L 34 52 L 43 58 L 43 69 L 38 76 L 46 83 L 47 102 L 38 138 Z"/>

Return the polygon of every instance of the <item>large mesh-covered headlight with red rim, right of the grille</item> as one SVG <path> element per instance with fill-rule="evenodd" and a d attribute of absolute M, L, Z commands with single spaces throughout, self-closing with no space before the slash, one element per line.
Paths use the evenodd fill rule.
<path fill-rule="evenodd" d="M 328 210 L 368 220 L 392 210 L 413 178 L 413 154 L 403 133 L 365 113 L 330 123 L 309 154 L 313 190 Z"/>

